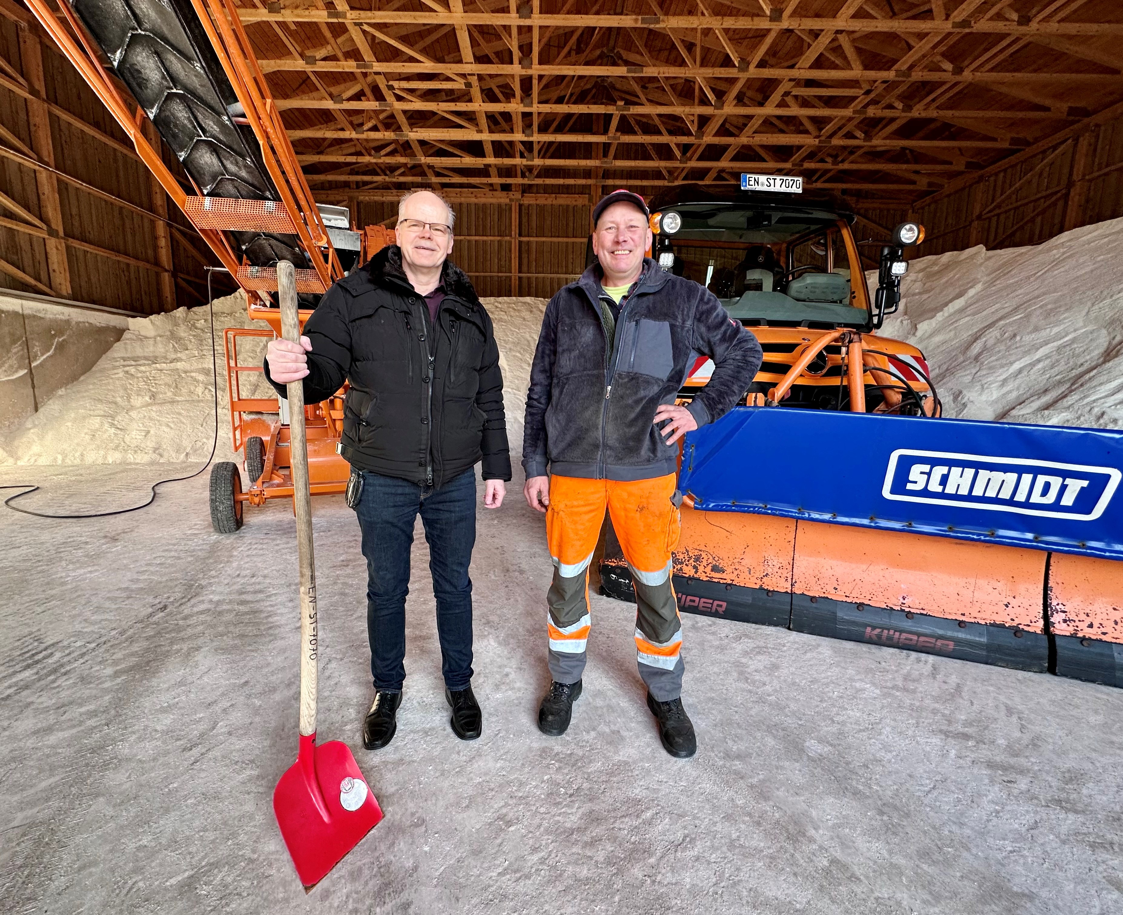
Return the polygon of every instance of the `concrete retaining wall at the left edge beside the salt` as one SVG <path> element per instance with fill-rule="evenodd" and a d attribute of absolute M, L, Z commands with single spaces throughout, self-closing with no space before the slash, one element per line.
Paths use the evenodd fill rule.
<path fill-rule="evenodd" d="M 89 372 L 128 326 L 112 309 L 0 291 L 0 429 Z"/>

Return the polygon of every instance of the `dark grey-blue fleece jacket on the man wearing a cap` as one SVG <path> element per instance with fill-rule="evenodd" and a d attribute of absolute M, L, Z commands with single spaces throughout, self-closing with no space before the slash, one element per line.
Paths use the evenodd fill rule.
<path fill-rule="evenodd" d="M 530 369 L 522 466 L 527 477 L 649 479 L 673 474 L 678 442 L 666 445 L 654 424 L 699 356 L 713 377 L 687 408 L 697 424 L 720 419 L 760 367 L 757 338 L 733 321 L 704 286 L 664 273 L 645 258 L 617 320 L 609 359 L 599 306 L 606 298 L 593 264 L 546 306 Z"/>

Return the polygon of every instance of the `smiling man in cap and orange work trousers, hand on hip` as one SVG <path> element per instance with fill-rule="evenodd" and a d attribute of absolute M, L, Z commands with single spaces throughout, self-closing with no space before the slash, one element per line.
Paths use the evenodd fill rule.
<path fill-rule="evenodd" d="M 582 693 L 588 566 L 608 509 L 636 583 L 647 705 L 667 752 L 690 757 L 697 743 L 683 708 L 682 622 L 670 583 L 682 501 L 678 440 L 737 403 L 761 353 L 712 292 L 645 256 L 649 220 L 643 199 L 629 191 L 596 204 L 597 260 L 550 300 L 530 370 L 523 492 L 546 512 L 554 560 L 547 594 L 553 683 L 538 726 L 565 733 Z M 688 406 L 678 406 L 675 395 L 700 355 L 713 359 L 713 375 Z"/>

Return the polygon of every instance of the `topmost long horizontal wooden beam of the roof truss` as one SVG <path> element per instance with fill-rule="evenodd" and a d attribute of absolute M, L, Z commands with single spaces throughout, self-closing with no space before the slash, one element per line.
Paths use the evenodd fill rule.
<path fill-rule="evenodd" d="M 585 27 L 602 29 L 642 28 L 684 29 L 690 31 L 860 31 L 891 34 L 938 35 L 1123 35 L 1121 22 L 1028 22 L 1003 19 L 905 19 L 900 16 L 885 19 L 816 18 L 805 16 L 612 16 L 581 13 L 533 13 L 528 16 L 504 12 L 409 12 L 403 10 L 336 10 L 289 8 L 275 12 L 263 9 L 239 9 L 243 22 L 371 22 L 384 25 L 408 24 L 419 26 L 490 26 L 511 28 L 538 26 L 540 28 Z M 693 37 L 693 36 L 687 36 Z"/>

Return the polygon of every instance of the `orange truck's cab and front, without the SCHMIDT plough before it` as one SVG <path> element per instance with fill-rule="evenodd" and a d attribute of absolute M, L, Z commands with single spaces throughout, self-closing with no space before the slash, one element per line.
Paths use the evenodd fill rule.
<path fill-rule="evenodd" d="M 811 410 L 939 415 L 923 354 L 877 333 L 900 301 L 904 249 L 923 240 L 923 228 L 906 222 L 893 238 L 856 241 L 855 220 L 829 199 L 784 192 L 715 196 L 687 186 L 654 201 L 652 257 L 706 286 L 760 341 L 765 362 L 749 405 L 775 400 Z M 875 245 L 870 253 L 883 262 L 873 301 L 859 245 Z M 851 366 L 858 340 L 861 360 Z M 849 384 L 859 366 L 860 391 Z M 712 370 L 699 359 L 682 400 Z"/>

